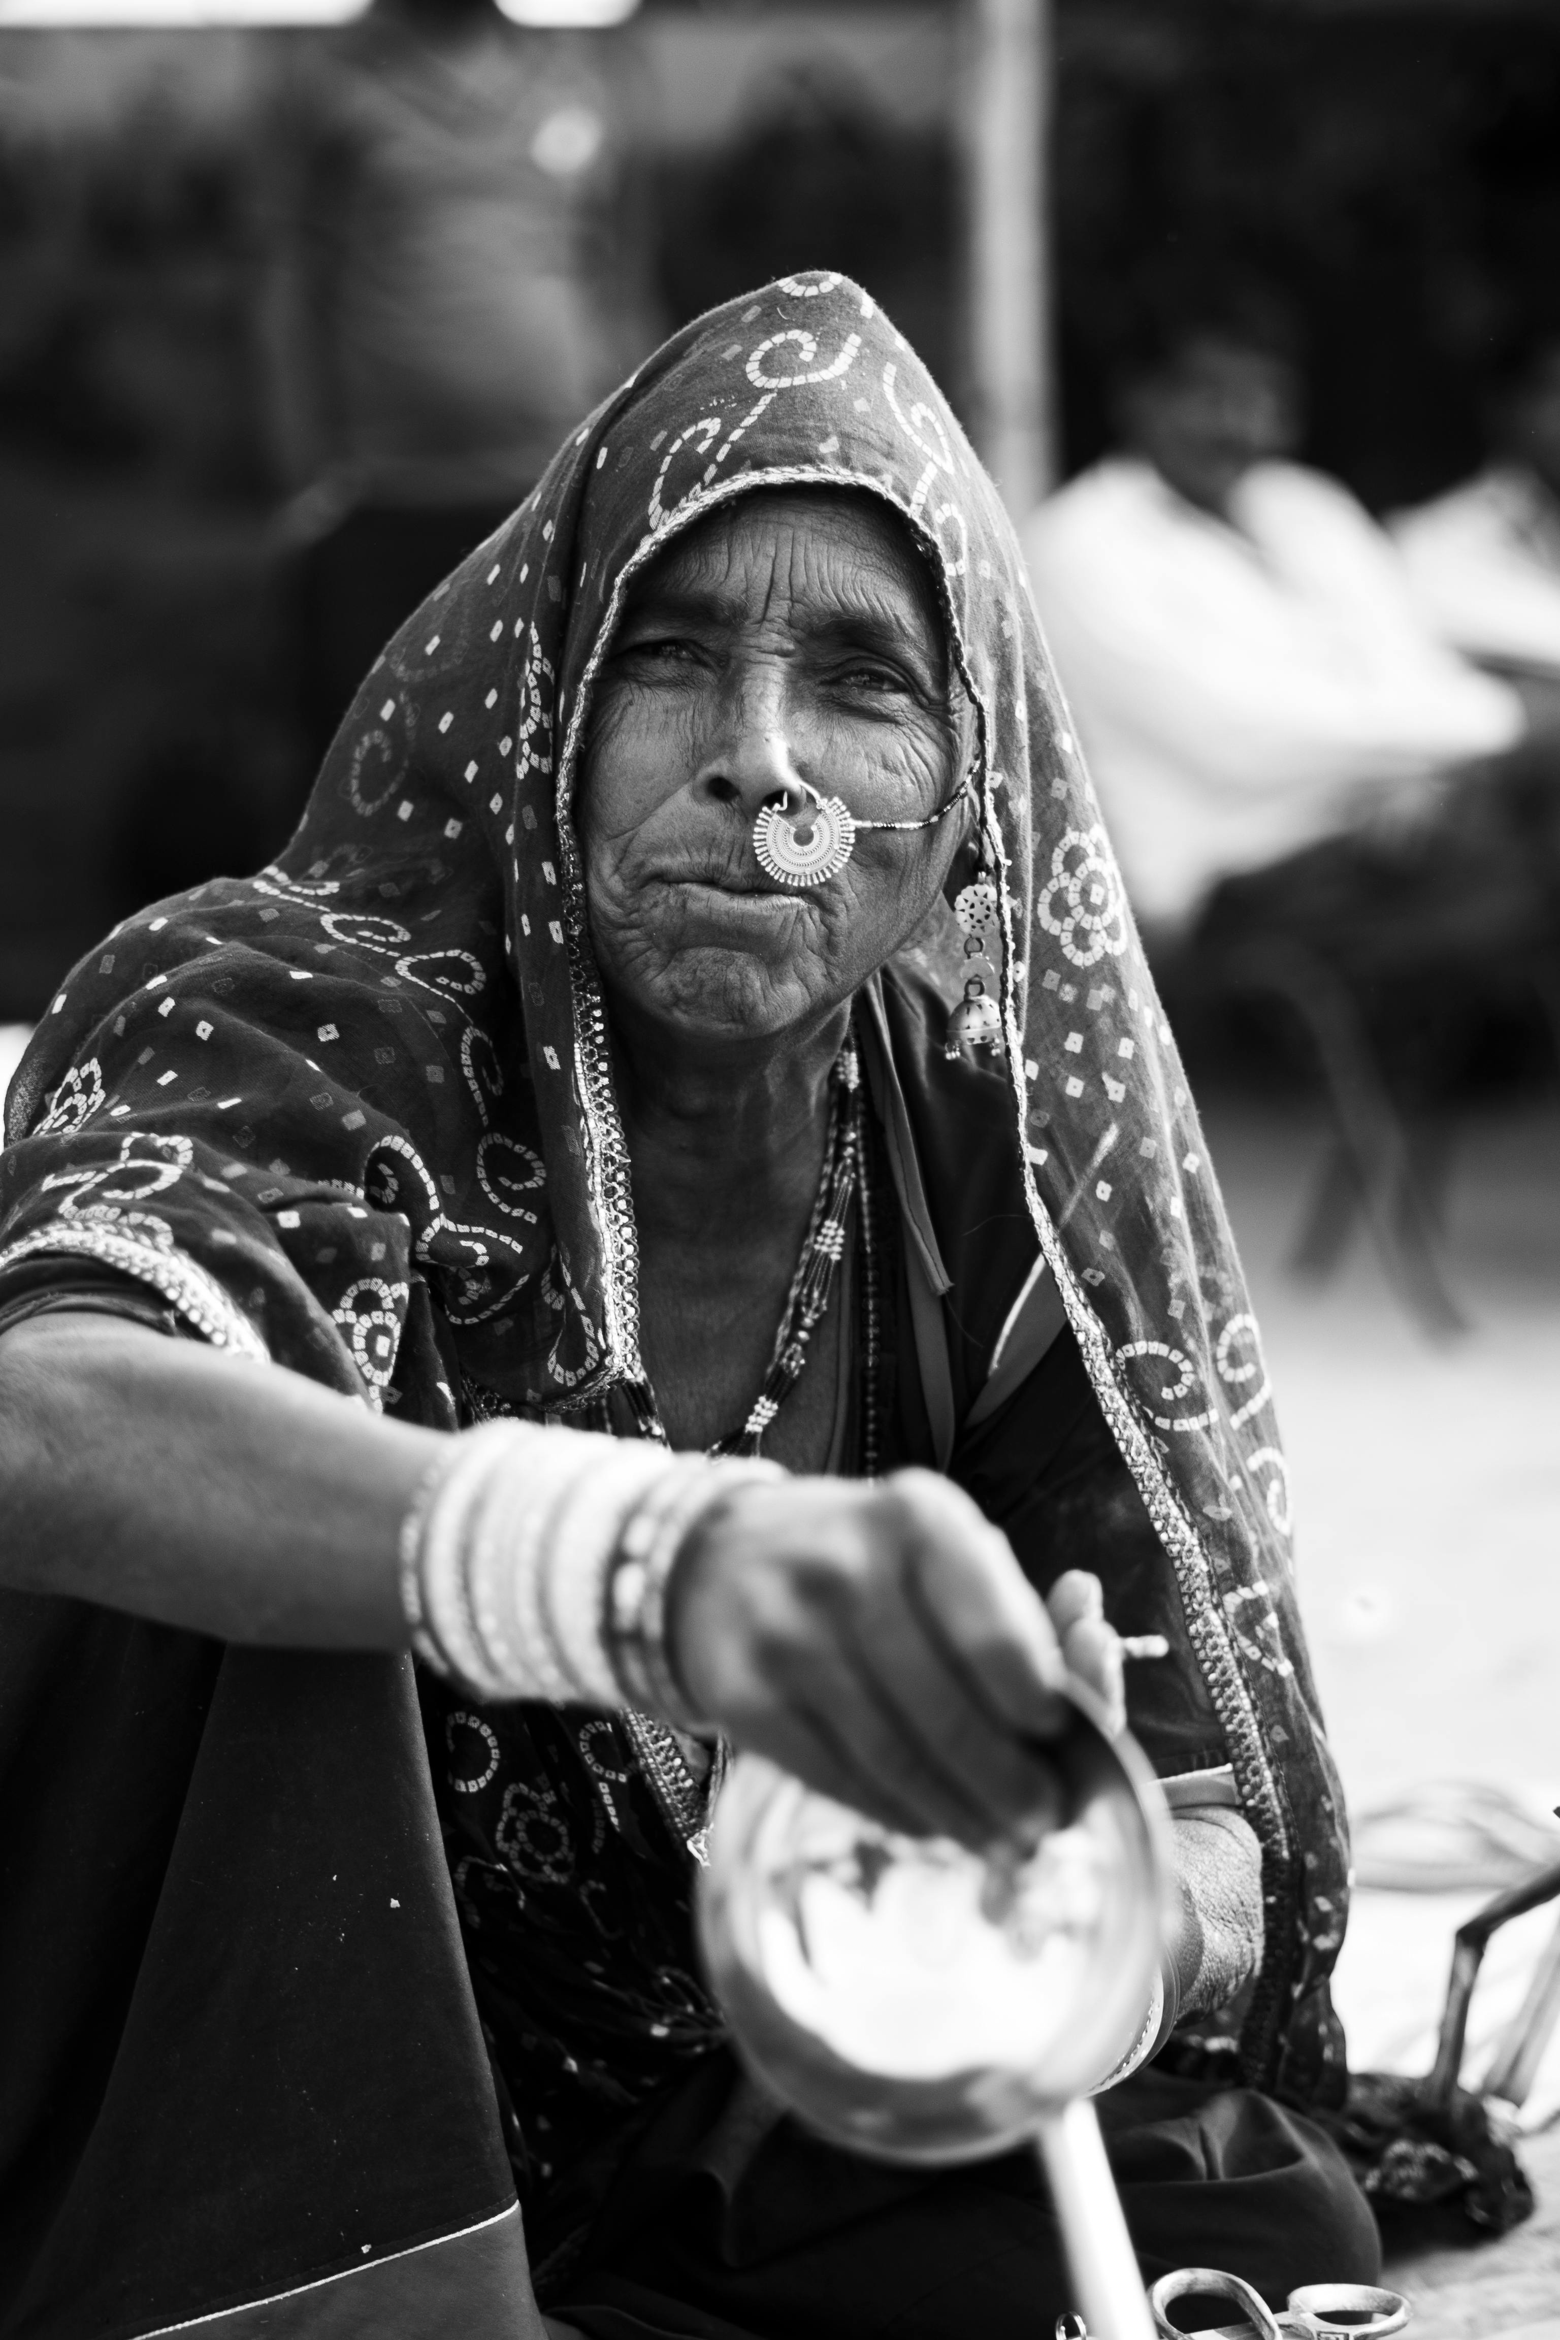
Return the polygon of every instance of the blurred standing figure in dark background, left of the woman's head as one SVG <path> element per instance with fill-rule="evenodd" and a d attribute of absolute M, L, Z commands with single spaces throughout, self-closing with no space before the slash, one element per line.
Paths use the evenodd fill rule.
<path fill-rule="evenodd" d="M 627 56 L 377 0 L 276 108 L 276 426 L 309 775 L 367 665 L 657 339 Z"/>

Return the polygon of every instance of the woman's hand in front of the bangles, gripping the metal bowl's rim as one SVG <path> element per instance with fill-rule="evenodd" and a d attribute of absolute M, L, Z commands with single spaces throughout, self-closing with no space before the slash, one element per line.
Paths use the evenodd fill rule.
<path fill-rule="evenodd" d="M 1120 1722 L 1120 1645 L 1099 1584 L 1045 1603 L 947 1479 L 795 1479 L 727 1498 L 678 1561 L 676 1675 L 737 1746 L 905 1835 L 971 1846 L 1059 1814 L 1045 1741 L 1062 1685 Z"/>

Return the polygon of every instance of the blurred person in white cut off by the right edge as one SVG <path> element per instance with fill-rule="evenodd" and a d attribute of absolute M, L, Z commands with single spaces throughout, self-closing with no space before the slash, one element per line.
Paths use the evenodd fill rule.
<path fill-rule="evenodd" d="M 1560 339 L 1497 381 L 1485 468 L 1389 526 L 1431 632 L 1520 683 L 1560 683 Z"/>

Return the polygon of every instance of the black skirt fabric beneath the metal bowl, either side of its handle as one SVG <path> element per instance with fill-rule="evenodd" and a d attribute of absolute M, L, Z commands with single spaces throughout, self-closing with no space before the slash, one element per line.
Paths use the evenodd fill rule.
<path fill-rule="evenodd" d="M 1371 2209 L 1312 2122 L 1146 2071 L 1099 2101 L 1144 2279 L 1226 2267 L 1272 2305 L 1380 2282 Z M 639 2132 L 547 2314 L 589 2340 L 1048 2340 L 1071 2307 L 1029 2153 L 889 2169 L 781 2115 L 727 2052 Z"/>

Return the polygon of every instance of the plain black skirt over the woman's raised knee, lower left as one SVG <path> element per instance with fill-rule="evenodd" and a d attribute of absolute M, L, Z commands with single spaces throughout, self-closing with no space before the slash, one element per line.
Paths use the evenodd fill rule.
<path fill-rule="evenodd" d="M 0 1594 L 0 2008 L 5 2340 L 267 2296 L 264 2340 L 442 2340 L 456 2305 L 463 2340 L 515 2331 L 407 1661 Z M 339 2274 L 365 2324 L 302 2289 Z"/>

